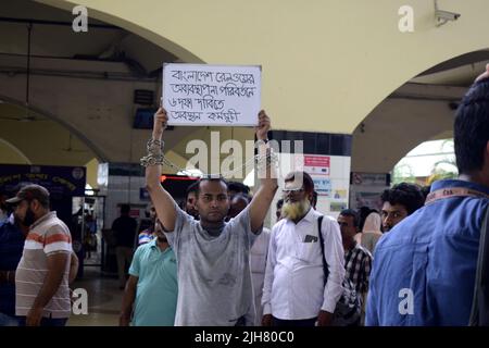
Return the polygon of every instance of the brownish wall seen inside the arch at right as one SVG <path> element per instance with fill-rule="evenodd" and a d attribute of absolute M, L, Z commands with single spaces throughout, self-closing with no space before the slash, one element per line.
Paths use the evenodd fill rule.
<path fill-rule="evenodd" d="M 437 62 L 428 69 L 429 71 L 439 71 L 438 67 L 454 69 L 451 78 L 456 80 L 456 64 L 467 54 L 489 55 L 486 51 L 464 52 Z M 463 71 L 465 83 L 471 84 L 484 69 L 485 63 L 477 62 L 471 63 L 471 67 L 464 66 L 460 70 Z M 424 72 L 418 72 L 416 75 Z M 441 74 L 450 75 L 450 73 Z M 459 80 L 460 78 L 459 76 Z M 421 77 L 408 82 L 393 90 L 362 120 L 353 133 L 352 171 L 390 172 L 419 144 L 453 137 L 455 108 L 467 88 L 441 85 L 440 77 L 437 84 L 430 84 L 429 79 L 432 80 L 434 77 Z"/>

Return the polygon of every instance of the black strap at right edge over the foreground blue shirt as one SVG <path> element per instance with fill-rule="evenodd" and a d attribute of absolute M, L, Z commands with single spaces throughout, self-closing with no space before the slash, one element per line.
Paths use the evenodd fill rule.
<path fill-rule="evenodd" d="M 482 221 L 477 259 L 471 326 L 489 326 L 489 207 Z"/>

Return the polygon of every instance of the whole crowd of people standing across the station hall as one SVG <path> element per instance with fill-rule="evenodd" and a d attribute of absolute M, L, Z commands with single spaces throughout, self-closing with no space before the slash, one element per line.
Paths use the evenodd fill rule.
<path fill-rule="evenodd" d="M 456 112 L 457 179 L 435 182 L 428 195 L 401 183 L 380 195 L 380 211 L 346 209 L 333 219 L 315 209 L 311 176 L 294 171 L 284 178 L 271 229 L 263 225 L 278 179 L 267 114 L 260 112 L 256 126 L 259 189 L 251 196 L 242 184 L 202 177 L 180 206 L 160 183 L 168 117 L 159 109 L 141 160 L 152 224 L 137 236 L 134 257 L 127 207 L 112 226 L 124 288 L 120 324 L 489 324 L 480 286 L 488 259 L 480 240 L 489 240 L 488 77 L 489 65 Z M 77 262 L 70 231 L 41 186 L 25 186 L 7 203 L 13 214 L 0 226 L 0 322 L 64 325 Z M 128 231 L 133 237 L 121 237 Z"/>

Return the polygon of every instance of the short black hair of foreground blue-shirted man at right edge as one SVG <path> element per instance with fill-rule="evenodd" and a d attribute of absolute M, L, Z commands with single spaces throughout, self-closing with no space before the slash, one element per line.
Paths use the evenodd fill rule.
<path fill-rule="evenodd" d="M 480 171 L 489 141 L 489 79 L 475 83 L 462 99 L 453 125 L 460 174 Z"/>

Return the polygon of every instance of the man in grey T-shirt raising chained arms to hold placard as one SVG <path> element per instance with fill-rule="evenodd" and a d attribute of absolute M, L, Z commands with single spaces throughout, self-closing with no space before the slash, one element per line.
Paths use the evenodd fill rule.
<path fill-rule="evenodd" d="M 175 325 L 252 325 L 253 293 L 250 249 L 262 232 L 263 221 L 277 190 L 272 175 L 276 158 L 267 150 L 269 117 L 259 113 L 259 172 L 265 175 L 251 203 L 228 223 L 227 184 L 221 176 L 201 178 L 197 203 L 200 221 L 178 208 L 160 184 L 163 163 L 162 135 L 168 122 L 165 109 L 154 115 L 146 166 L 147 188 L 165 234 L 177 257 L 178 302 Z M 251 313 L 251 314 L 250 314 Z"/>

